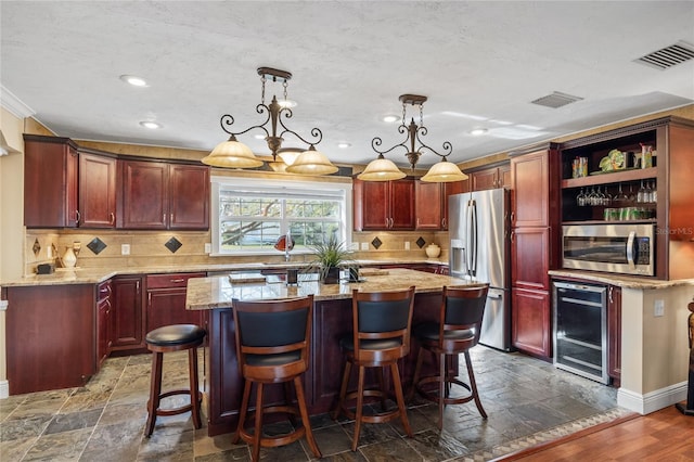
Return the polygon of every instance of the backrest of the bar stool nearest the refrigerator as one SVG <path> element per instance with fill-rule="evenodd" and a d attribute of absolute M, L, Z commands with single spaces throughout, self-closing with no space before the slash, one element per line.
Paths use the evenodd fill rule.
<path fill-rule="evenodd" d="M 444 287 L 439 318 L 444 322 L 440 323 L 439 348 L 446 347 L 446 332 L 450 331 L 474 331 L 475 337 L 472 346 L 477 345 L 488 292 L 488 284 L 470 287 Z"/>

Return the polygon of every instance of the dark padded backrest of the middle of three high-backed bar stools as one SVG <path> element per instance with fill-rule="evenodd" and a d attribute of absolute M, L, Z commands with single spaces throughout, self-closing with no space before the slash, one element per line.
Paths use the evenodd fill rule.
<path fill-rule="evenodd" d="M 384 355 L 397 357 L 407 355 L 410 351 L 413 307 L 414 286 L 404 291 L 387 292 L 355 290 L 352 292 L 355 357 L 373 360 Z"/>

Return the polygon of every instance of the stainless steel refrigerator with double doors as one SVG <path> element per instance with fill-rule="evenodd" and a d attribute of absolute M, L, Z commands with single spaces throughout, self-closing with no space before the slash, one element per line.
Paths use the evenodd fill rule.
<path fill-rule="evenodd" d="M 511 349 L 509 204 L 503 188 L 453 194 L 448 202 L 450 273 L 489 283 L 479 343 L 504 351 Z"/>

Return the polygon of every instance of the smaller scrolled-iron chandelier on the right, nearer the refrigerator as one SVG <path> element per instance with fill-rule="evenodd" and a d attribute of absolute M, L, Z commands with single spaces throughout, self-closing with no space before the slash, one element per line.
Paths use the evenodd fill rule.
<path fill-rule="evenodd" d="M 424 126 L 424 114 L 423 107 L 427 98 L 419 94 L 402 94 L 400 95 L 400 101 L 402 102 L 402 120 L 400 126 L 398 127 L 398 132 L 407 133 L 406 139 L 390 149 L 381 150 L 380 146 L 383 144 L 383 140 L 378 137 L 371 140 L 371 147 L 378 153 L 378 157 L 375 161 L 372 161 L 367 168 L 357 176 L 360 180 L 364 181 L 388 181 L 388 180 L 397 180 L 400 178 L 404 178 L 407 175 L 402 172 L 393 161 L 385 158 L 384 154 L 389 153 L 390 151 L 402 147 L 406 150 L 406 156 L 412 170 L 414 171 L 414 167 L 416 166 L 420 157 L 423 154 L 423 151 L 428 151 L 432 154 L 436 154 L 441 157 L 441 161 L 434 164 L 432 168 L 426 172 L 425 176 L 421 178 L 422 181 L 428 182 L 449 182 L 449 181 L 460 181 L 467 178 L 460 168 L 448 162 L 448 156 L 451 154 L 453 147 L 451 143 L 448 141 L 444 142 L 442 149 L 444 154 L 438 153 L 433 147 L 424 144 L 420 137 L 424 137 L 427 133 L 427 128 Z M 407 121 L 407 106 L 408 104 L 415 106 L 420 106 L 420 125 L 416 125 L 414 121 L 414 117 L 412 117 L 410 125 L 406 125 Z M 419 146 L 416 145 L 419 143 Z"/>

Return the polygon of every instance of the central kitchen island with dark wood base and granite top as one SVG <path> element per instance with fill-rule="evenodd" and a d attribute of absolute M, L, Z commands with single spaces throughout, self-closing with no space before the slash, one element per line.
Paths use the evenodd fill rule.
<path fill-rule="evenodd" d="M 358 283 L 343 281 L 339 284 L 321 284 L 317 274 L 299 274 L 296 286 L 287 286 L 281 274 L 248 274 L 247 282 L 232 282 L 228 275 L 189 280 L 187 308 L 209 310 L 206 325 L 208 344 L 205 386 L 208 398 L 207 428 L 210 436 L 233 432 L 241 407 L 243 378 L 239 372 L 234 344 L 234 299 L 287 298 L 313 294 L 311 360 L 304 376 L 304 388 L 309 413 L 318 414 L 332 408 L 339 392 L 343 357 L 338 342 L 342 336 L 351 332 L 351 295 L 355 288 L 376 292 L 414 285 L 414 325 L 438 320 L 444 286 L 474 284 L 458 278 L 408 269 L 363 270 L 361 277 Z M 415 360 L 416 345 L 412 345 L 410 355 L 400 368 L 406 386 L 412 378 Z M 433 370 L 426 372 L 434 373 Z M 277 388 L 269 390 L 271 393 L 268 393 L 266 403 L 282 399 L 282 387 Z"/>

